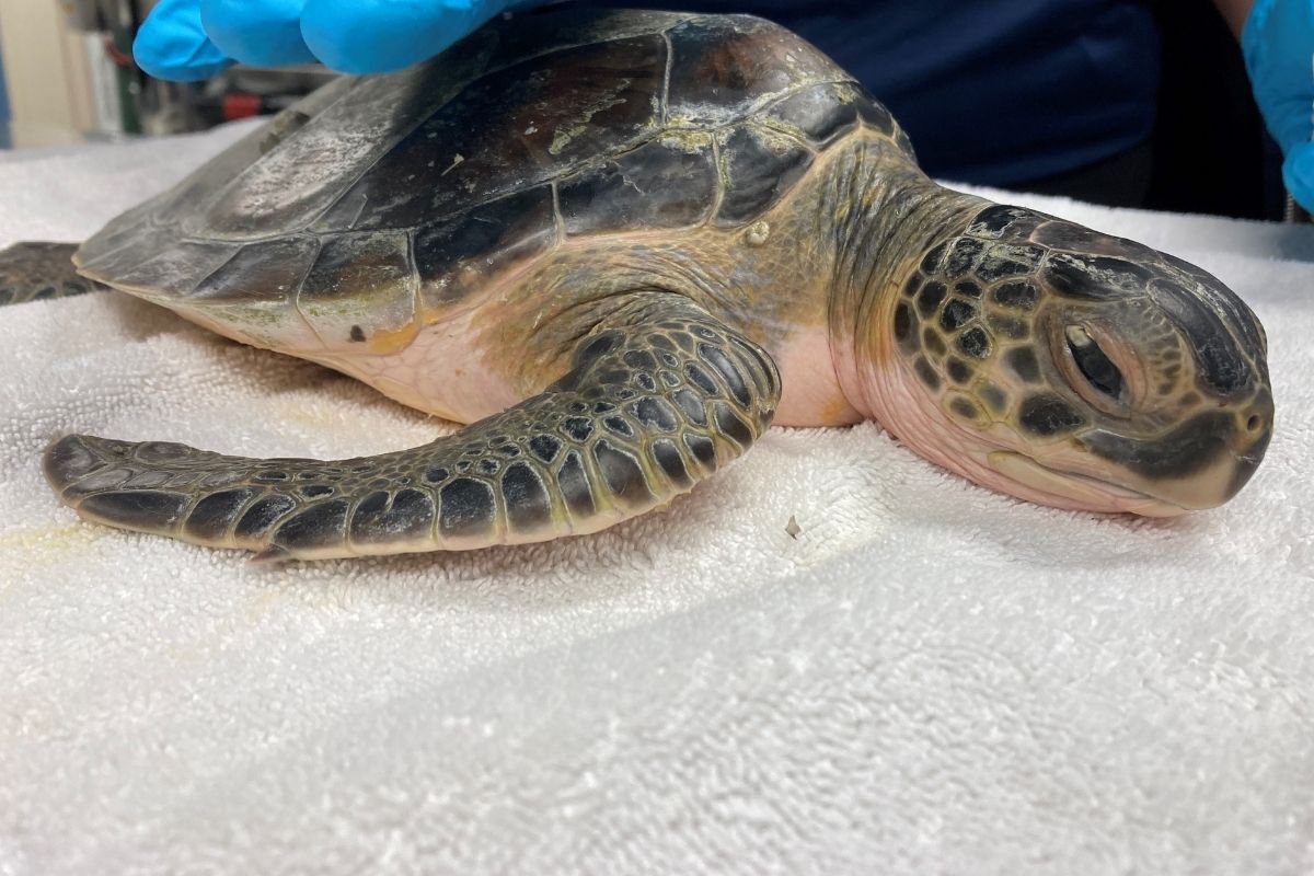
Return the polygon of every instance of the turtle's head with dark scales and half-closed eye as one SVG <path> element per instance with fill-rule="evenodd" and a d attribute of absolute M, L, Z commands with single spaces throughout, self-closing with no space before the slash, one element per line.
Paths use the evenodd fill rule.
<path fill-rule="evenodd" d="M 1230 289 L 1031 210 L 978 208 L 958 229 L 895 303 L 901 389 L 878 416 L 896 435 L 1059 507 L 1168 516 L 1246 485 L 1273 399 L 1263 327 Z"/>

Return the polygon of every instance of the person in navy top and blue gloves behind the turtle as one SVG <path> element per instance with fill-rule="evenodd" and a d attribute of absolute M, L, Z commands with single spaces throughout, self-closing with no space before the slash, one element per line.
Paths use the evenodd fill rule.
<path fill-rule="evenodd" d="M 322 60 L 346 72 L 428 58 L 533 0 L 162 0 L 134 46 L 163 79 Z M 1159 87 L 1146 0 L 629 0 L 773 18 L 829 54 L 908 130 L 922 167 L 963 183 L 1067 190 L 1144 185 Z M 1242 41 L 1284 183 L 1314 210 L 1314 0 L 1215 0 Z M 1089 198 L 1088 200 L 1099 200 Z"/>

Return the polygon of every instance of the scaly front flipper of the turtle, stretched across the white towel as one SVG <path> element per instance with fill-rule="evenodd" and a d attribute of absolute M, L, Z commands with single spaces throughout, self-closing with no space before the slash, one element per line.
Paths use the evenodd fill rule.
<path fill-rule="evenodd" d="M 251 460 L 71 435 L 45 470 L 88 520 L 258 559 L 459 550 L 644 514 L 741 456 L 779 395 L 759 347 L 658 296 L 589 331 L 541 394 L 414 449 Z"/>

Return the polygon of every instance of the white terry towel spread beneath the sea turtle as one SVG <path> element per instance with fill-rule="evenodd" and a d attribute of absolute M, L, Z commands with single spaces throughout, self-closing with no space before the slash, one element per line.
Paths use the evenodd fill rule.
<path fill-rule="evenodd" d="M 243 131 L 5 156 L 0 246 Z M 1231 504 L 1053 511 L 773 429 L 598 536 L 255 567 L 78 521 L 41 449 L 449 427 L 126 296 L 0 310 L 0 873 L 1310 872 L 1314 234 L 1026 202 L 1259 313 L 1277 427 Z"/>

